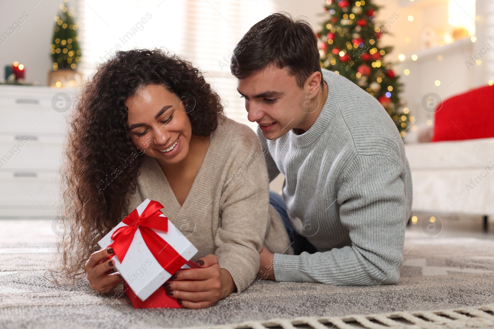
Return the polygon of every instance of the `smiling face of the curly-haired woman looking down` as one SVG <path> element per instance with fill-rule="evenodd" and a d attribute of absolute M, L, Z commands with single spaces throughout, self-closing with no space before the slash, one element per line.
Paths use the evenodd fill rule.
<path fill-rule="evenodd" d="M 175 164 L 189 152 L 192 127 L 180 98 L 162 85 L 148 85 L 127 98 L 132 142 L 160 163 Z"/>

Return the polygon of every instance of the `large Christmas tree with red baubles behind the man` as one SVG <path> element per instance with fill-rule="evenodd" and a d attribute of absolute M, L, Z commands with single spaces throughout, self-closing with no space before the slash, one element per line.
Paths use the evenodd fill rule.
<path fill-rule="evenodd" d="M 321 66 L 345 76 L 374 96 L 405 137 L 410 118 L 407 108 L 399 110 L 403 106 L 399 97 L 403 84 L 399 83 L 386 56 L 392 47 L 378 45 L 391 21 L 399 16 L 377 27 L 373 20 L 380 7 L 371 0 L 327 0 L 326 3 L 330 17 L 317 34 Z"/>

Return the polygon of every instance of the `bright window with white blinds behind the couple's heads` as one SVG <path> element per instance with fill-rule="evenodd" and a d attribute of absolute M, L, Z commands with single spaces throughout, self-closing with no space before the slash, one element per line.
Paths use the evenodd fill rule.
<path fill-rule="evenodd" d="M 248 29 L 272 13 L 273 0 L 76 0 L 80 69 L 94 72 L 118 50 L 164 47 L 192 61 L 221 96 L 227 115 L 255 129 L 230 73 Z"/>

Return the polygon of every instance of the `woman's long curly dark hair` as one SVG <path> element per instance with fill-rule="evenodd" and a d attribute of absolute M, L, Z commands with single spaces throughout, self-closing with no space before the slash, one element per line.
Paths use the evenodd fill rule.
<path fill-rule="evenodd" d="M 74 284 L 97 242 L 128 211 L 142 151 L 130 138 L 124 102 L 148 85 L 163 85 L 186 101 L 192 134 L 209 136 L 223 118 L 219 96 L 186 60 L 161 49 L 119 51 L 82 86 L 71 118 L 61 167 L 59 219 L 70 233 L 58 243 L 56 265 L 45 277 Z"/>

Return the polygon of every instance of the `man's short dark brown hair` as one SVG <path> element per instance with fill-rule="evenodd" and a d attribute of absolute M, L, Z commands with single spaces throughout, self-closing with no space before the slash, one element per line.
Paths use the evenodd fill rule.
<path fill-rule="evenodd" d="M 233 51 L 230 63 L 232 74 L 245 79 L 268 65 L 276 65 L 280 69 L 287 67 L 300 88 L 303 88 L 309 75 L 321 72 L 317 37 L 309 23 L 278 12 L 248 30 Z"/>

